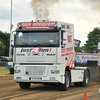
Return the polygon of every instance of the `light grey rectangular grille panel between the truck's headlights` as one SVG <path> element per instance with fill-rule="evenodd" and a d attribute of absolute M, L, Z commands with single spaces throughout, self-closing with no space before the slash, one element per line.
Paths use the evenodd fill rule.
<path fill-rule="evenodd" d="M 26 66 L 28 75 L 44 75 L 45 66 Z"/>

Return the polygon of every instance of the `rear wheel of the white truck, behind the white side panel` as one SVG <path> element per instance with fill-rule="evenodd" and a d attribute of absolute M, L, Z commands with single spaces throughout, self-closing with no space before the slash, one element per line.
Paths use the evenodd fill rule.
<path fill-rule="evenodd" d="M 77 83 L 74 83 L 75 86 L 82 86 L 82 87 L 87 87 L 89 84 L 89 72 L 86 70 L 84 72 L 84 80 L 83 82 L 77 82 Z"/>

